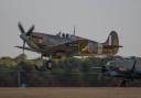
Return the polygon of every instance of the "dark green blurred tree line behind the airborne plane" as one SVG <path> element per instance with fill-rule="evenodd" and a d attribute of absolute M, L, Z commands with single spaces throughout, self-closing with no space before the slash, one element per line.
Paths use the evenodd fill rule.
<path fill-rule="evenodd" d="M 102 77 L 100 67 L 116 57 L 69 57 L 55 61 L 53 69 L 36 70 L 40 58 L 26 59 L 25 54 L 15 58 L 0 58 L 0 87 L 101 87 L 110 86 L 112 78 Z M 120 57 L 121 58 L 121 57 Z"/>

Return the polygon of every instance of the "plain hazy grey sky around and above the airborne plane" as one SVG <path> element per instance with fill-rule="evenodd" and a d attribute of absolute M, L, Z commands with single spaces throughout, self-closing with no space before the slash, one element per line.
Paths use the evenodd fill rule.
<path fill-rule="evenodd" d="M 56 34 L 73 33 L 94 41 L 106 41 L 116 30 L 122 56 L 141 56 L 141 0 L 0 0 L 0 56 L 17 56 L 22 51 L 18 22 L 28 30 Z M 35 53 L 26 52 L 29 56 Z"/>

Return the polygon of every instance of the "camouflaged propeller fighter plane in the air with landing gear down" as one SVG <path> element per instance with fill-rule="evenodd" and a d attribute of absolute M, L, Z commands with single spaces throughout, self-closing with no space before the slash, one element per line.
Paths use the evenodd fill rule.
<path fill-rule="evenodd" d="M 98 43 L 85 37 L 65 34 L 58 32 L 56 35 L 33 32 L 34 25 L 29 31 L 24 31 L 22 24 L 18 24 L 23 40 L 23 46 L 15 46 L 18 48 L 36 52 L 41 54 L 41 58 L 48 57 L 45 62 L 46 68 L 53 67 L 53 58 L 61 58 L 63 56 L 89 56 L 89 55 L 107 55 L 113 56 L 117 54 L 119 47 L 119 39 L 116 31 L 111 31 L 108 39 L 104 43 Z M 25 43 L 29 47 L 25 46 Z"/>

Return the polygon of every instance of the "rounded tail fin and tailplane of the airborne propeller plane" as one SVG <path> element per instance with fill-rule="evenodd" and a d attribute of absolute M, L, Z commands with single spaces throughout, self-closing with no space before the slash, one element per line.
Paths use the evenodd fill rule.
<path fill-rule="evenodd" d="M 122 47 L 119 45 L 119 37 L 116 31 L 111 31 L 107 41 L 104 43 L 104 47 L 107 50 L 111 50 L 112 54 L 116 54 L 119 50 L 119 47 Z"/>

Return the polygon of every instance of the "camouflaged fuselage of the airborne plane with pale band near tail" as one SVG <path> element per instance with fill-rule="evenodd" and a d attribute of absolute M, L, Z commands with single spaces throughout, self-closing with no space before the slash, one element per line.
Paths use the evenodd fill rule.
<path fill-rule="evenodd" d="M 88 55 L 93 55 L 93 54 L 94 55 L 101 55 L 101 54 L 102 55 L 115 55 L 118 52 L 118 51 L 115 51 L 118 47 L 110 50 L 108 47 L 105 47 L 106 43 L 98 43 L 98 42 L 95 42 L 91 40 L 87 40 L 87 39 L 75 36 L 75 35 L 69 35 L 69 34 L 51 35 L 51 34 L 33 32 L 29 36 L 29 41 L 26 41 L 26 43 L 29 44 L 30 47 L 37 50 L 37 51 L 41 50 L 43 52 L 43 54 L 48 54 L 47 53 L 48 47 L 55 46 L 55 45 L 58 45 L 62 43 L 73 42 L 73 41 L 76 41 L 79 39 L 83 39 L 86 41 L 80 44 L 76 43 L 77 45 L 79 45 L 79 48 L 76 45 L 76 50 L 69 51 L 70 52 L 69 56 L 80 56 L 80 55 L 88 56 Z M 30 44 L 30 42 L 32 42 L 34 44 Z M 69 47 L 73 47 L 73 46 L 69 46 Z M 58 54 L 65 55 L 65 53 L 62 53 L 62 52 L 58 52 Z"/>

